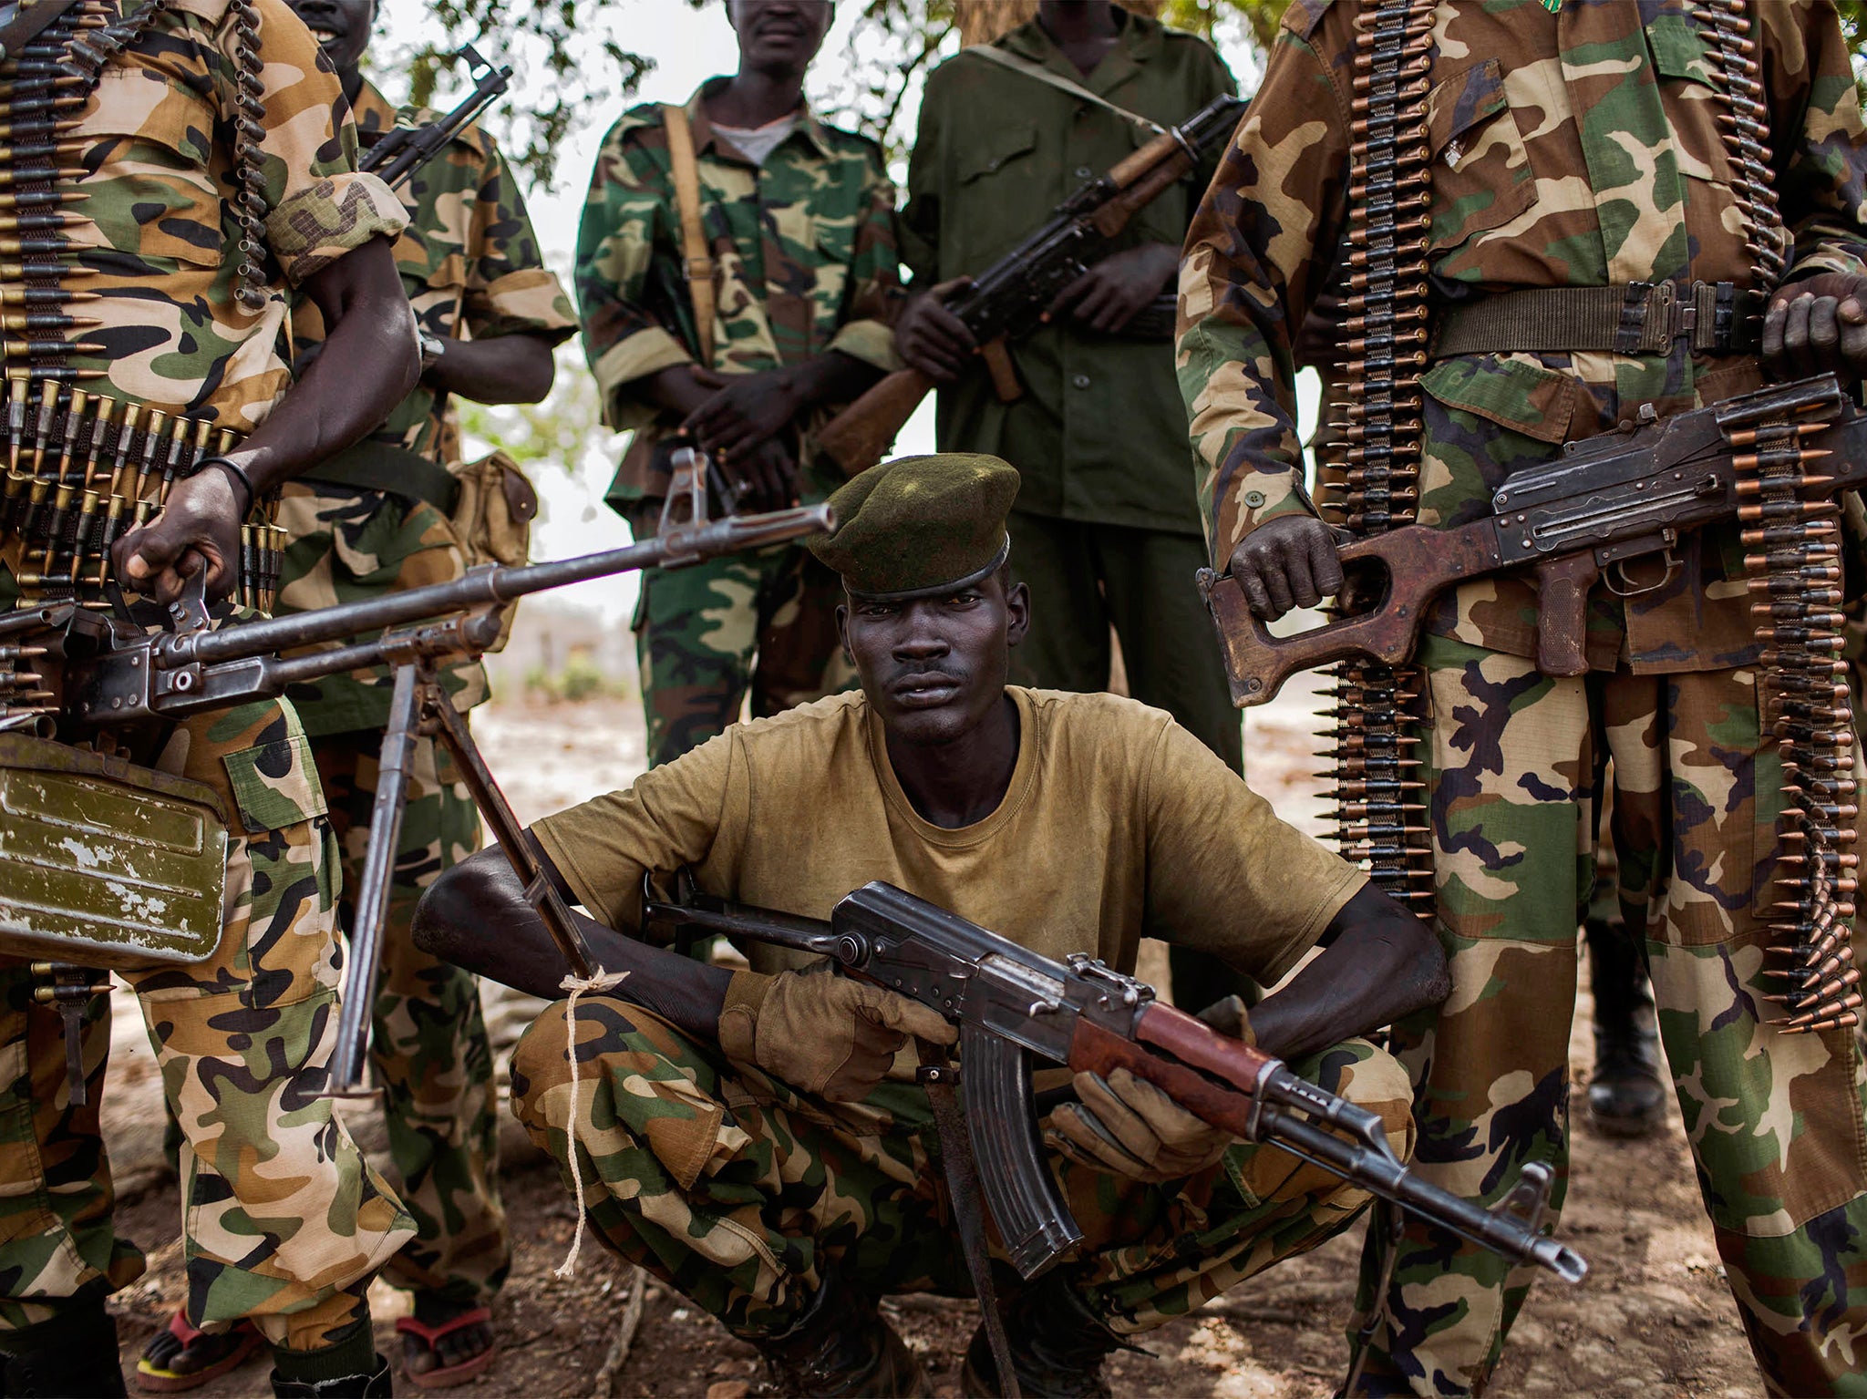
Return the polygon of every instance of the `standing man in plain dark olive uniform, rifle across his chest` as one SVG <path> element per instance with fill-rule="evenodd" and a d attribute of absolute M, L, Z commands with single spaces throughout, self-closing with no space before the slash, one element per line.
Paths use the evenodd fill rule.
<path fill-rule="evenodd" d="M 902 252 L 922 289 L 1010 252 L 1135 149 L 1135 118 L 1172 125 L 1238 91 L 1208 43 L 1109 0 L 1046 0 L 1036 11 L 928 76 L 902 215 Z M 1180 242 L 1212 168 L 1143 209 L 1116 250 L 1057 297 L 1053 323 L 1012 347 L 1016 401 L 999 395 L 939 297 L 909 302 L 898 341 L 941 384 L 941 450 L 995 453 L 1023 478 L 1012 547 L 1040 625 L 1014 677 L 1107 688 L 1113 623 L 1128 692 L 1242 772 L 1238 711 L 1187 586 L 1206 558 L 1171 353 Z M 1210 1000 L 1221 990 L 1214 976 L 1227 972 L 1176 949 L 1176 992 L 1199 987 Z"/>

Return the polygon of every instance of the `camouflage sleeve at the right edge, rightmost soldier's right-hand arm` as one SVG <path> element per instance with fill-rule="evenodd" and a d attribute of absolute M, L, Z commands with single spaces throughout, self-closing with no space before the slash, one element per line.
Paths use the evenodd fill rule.
<path fill-rule="evenodd" d="M 1776 187 L 1796 239 L 1787 280 L 1867 276 L 1867 131 L 1833 0 L 1757 6 Z"/>

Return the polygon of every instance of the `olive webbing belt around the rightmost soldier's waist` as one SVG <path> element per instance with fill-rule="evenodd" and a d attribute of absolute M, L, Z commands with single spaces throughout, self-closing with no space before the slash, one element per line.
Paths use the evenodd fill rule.
<path fill-rule="evenodd" d="M 1708 354 L 1749 354 L 1762 339 L 1762 310 L 1761 293 L 1731 282 L 1505 291 L 1443 308 L 1430 354 L 1667 354 L 1675 339 Z"/>

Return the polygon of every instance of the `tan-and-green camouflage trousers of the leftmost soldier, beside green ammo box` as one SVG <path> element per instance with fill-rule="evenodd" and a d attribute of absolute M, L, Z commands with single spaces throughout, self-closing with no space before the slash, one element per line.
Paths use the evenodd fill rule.
<path fill-rule="evenodd" d="M 254 701 L 179 724 L 155 763 L 220 793 L 230 817 L 224 936 L 209 961 L 125 974 L 181 1123 L 187 1317 L 252 1317 L 319 1349 L 366 1315 L 370 1278 L 413 1233 L 394 1192 L 332 1117 L 338 867 L 297 714 Z M 99 1136 L 108 1002 L 84 1018 L 88 1097 L 65 1086 L 62 1018 L 32 972 L 0 961 L 0 1328 L 144 1270 L 112 1226 Z"/>

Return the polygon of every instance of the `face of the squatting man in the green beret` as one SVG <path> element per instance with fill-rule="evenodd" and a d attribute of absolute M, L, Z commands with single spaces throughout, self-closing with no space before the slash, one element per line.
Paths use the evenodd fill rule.
<path fill-rule="evenodd" d="M 836 610 L 863 694 L 891 739 L 947 744 L 976 729 L 1004 694 L 1031 599 L 1004 571 L 948 597 Z"/>

